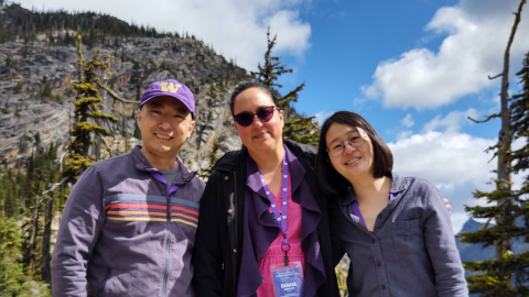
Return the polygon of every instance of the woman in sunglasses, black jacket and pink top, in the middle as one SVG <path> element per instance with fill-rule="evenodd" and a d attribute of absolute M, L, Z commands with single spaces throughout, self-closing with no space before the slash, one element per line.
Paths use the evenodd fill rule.
<path fill-rule="evenodd" d="M 230 108 L 244 147 L 215 164 L 201 201 L 196 296 L 339 296 L 316 148 L 283 141 L 283 112 L 261 84 L 239 85 Z"/>

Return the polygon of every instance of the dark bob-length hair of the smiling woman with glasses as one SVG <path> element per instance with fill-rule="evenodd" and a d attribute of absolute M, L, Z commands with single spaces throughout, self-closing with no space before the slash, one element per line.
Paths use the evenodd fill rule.
<path fill-rule="evenodd" d="M 377 131 L 375 131 L 371 124 L 369 124 L 369 122 L 367 122 L 366 119 L 359 114 L 350 111 L 338 111 L 325 120 L 320 133 L 320 143 L 317 146 L 316 156 L 316 172 L 321 187 L 324 191 L 332 195 L 343 195 L 350 186 L 350 183 L 333 167 L 326 152 L 327 131 L 334 123 L 346 124 L 364 130 L 373 144 L 373 176 L 375 178 L 390 176 L 390 172 L 393 168 L 393 155 L 391 154 L 391 151 L 386 142 L 384 142 L 380 135 L 378 135 Z"/>

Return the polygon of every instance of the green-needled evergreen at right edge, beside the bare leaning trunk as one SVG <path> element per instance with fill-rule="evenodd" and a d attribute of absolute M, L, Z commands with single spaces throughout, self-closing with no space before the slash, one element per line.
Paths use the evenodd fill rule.
<path fill-rule="evenodd" d="M 512 96 L 510 101 L 510 127 L 514 139 L 529 136 L 529 53 L 523 61 L 523 68 L 517 74 L 521 78 L 522 91 Z M 529 168 L 529 144 L 520 150 L 512 151 L 508 156 L 512 164 L 511 172 L 520 173 Z M 509 213 L 508 220 L 503 220 L 494 227 L 485 228 L 474 233 L 464 233 L 463 242 L 482 242 L 485 246 L 497 244 L 500 241 L 510 241 L 517 237 L 525 237 L 529 242 L 529 177 L 520 190 L 510 188 L 496 189 L 492 193 L 476 191 L 477 198 L 487 198 L 488 202 L 498 202 L 493 207 L 467 208 L 474 218 L 498 218 L 504 212 Z M 525 218 L 526 226 L 516 226 L 520 217 Z M 487 223 L 488 224 L 488 223 Z M 529 287 L 523 283 L 529 279 L 529 251 L 514 254 L 510 250 L 501 257 L 475 263 L 465 263 L 465 268 L 486 274 L 469 276 L 471 292 L 483 293 L 483 296 L 529 296 Z M 516 286 L 511 285 L 515 276 Z"/>

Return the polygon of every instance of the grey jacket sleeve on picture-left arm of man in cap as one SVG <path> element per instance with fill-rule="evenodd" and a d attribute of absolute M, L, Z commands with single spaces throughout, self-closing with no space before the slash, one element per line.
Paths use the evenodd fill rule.
<path fill-rule="evenodd" d="M 52 257 L 53 296 L 86 296 L 86 268 L 105 222 L 104 185 L 95 166 L 72 188 Z"/>

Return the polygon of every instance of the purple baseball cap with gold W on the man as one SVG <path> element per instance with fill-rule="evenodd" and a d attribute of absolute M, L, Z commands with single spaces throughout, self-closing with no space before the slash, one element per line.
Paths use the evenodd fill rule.
<path fill-rule="evenodd" d="M 169 96 L 179 99 L 190 110 L 193 120 L 195 119 L 195 98 L 190 88 L 176 79 L 168 79 L 152 82 L 143 92 L 140 101 L 141 107 L 152 98 Z"/>

